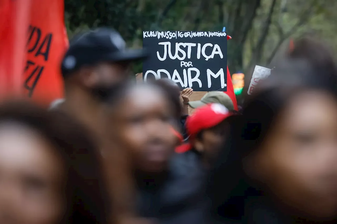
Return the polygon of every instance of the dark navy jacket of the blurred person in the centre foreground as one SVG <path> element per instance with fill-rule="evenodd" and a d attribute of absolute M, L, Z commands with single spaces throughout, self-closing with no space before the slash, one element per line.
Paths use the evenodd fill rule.
<path fill-rule="evenodd" d="M 139 214 L 161 224 L 204 224 L 205 175 L 197 154 L 175 154 L 164 179 L 138 184 Z"/>

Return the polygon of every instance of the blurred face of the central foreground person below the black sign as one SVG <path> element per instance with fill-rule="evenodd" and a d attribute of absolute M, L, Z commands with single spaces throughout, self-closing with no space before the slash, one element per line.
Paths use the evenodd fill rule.
<path fill-rule="evenodd" d="M 173 111 L 162 92 L 135 86 L 111 115 L 113 141 L 127 150 L 134 169 L 158 173 L 167 168 L 176 137 L 170 125 Z"/>

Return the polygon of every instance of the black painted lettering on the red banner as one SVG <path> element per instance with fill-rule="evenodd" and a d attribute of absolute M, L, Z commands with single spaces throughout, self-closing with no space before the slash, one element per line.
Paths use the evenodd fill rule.
<path fill-rule="evenodd" d="M 29 26 L 27 53 L 25 66 L 24 88 L 28 90 L 28 97 L 32 97 L 37 82 L 39 81 L 45 62 L 48 62 L 53 34 L 43 34 L 38 27 Z"/>

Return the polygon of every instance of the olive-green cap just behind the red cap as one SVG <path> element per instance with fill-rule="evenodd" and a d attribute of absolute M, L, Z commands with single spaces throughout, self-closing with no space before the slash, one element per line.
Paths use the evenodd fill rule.
<path fill-rule="evenodd" d="M 225 106 L 229 111 L 234 111 L 232 99 L 226 93 L 221 91 L 207 92 L 200 100 L 191 101 L 188 104 L 195 109 L 210 103 L 219 103 Z"/>

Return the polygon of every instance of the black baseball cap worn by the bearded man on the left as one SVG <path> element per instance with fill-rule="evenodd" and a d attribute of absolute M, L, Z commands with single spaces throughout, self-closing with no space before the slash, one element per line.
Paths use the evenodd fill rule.
<path fill-rule="evenodd" d="M 97 28 L 78 34 L 70 40 L 61 71 L 63 77 L 84 65 L 99 62 L 135 61 L 146 58 L 144 49 L 128 49 L 122 36 L 114 29 Z"/>

